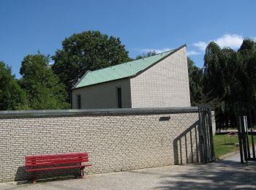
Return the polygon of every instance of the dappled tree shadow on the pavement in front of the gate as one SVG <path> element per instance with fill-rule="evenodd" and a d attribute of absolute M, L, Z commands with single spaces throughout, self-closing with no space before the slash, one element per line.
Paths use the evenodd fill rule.
<path fill-rule="evenodd" d="M 155 189 L 256 189 L 256 165 L 218 161 L 186 173 L 162 175 Z"/>

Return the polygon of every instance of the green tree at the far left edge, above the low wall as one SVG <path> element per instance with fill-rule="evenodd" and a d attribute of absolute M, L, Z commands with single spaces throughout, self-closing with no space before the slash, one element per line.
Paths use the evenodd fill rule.
<path fill-rule="evenodd" d="M 20 88 L 10 66 L 0 61 L 0 110 L 28 110 L 25 92 Z"/>

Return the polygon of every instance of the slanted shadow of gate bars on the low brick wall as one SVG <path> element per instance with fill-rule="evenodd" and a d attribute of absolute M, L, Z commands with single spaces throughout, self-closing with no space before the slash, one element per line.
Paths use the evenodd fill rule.
<path fill-rule="evenodd" d="M 198 121 L 173 140 L 174 164 L 200 162 Z"/>

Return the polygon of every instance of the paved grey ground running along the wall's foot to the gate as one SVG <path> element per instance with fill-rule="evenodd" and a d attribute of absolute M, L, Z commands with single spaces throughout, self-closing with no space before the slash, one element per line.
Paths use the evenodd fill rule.
<path fill-rule="evenodd" d="M 35 185 L 0 183 L 0 189 L 256 189 L 256 164 L 239 164 L 235 154 L 205 165 L 155 167 Z"/>

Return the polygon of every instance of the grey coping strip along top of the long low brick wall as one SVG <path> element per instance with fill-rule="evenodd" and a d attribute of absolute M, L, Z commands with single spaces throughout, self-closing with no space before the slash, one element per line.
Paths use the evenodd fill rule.
<path fill-rule="evenodd" d="M 37 116 L 69 116 L 69 115 L 100 115 L 100 114 L 143 114 L 143 113 L 193 113 L 198 107 L 162 107 L 162 108 L 122 108 L 122 109 L 88 109 L 88 110 L 19 110 L 0 111 L 0 118 L 37 117 Z"/>

